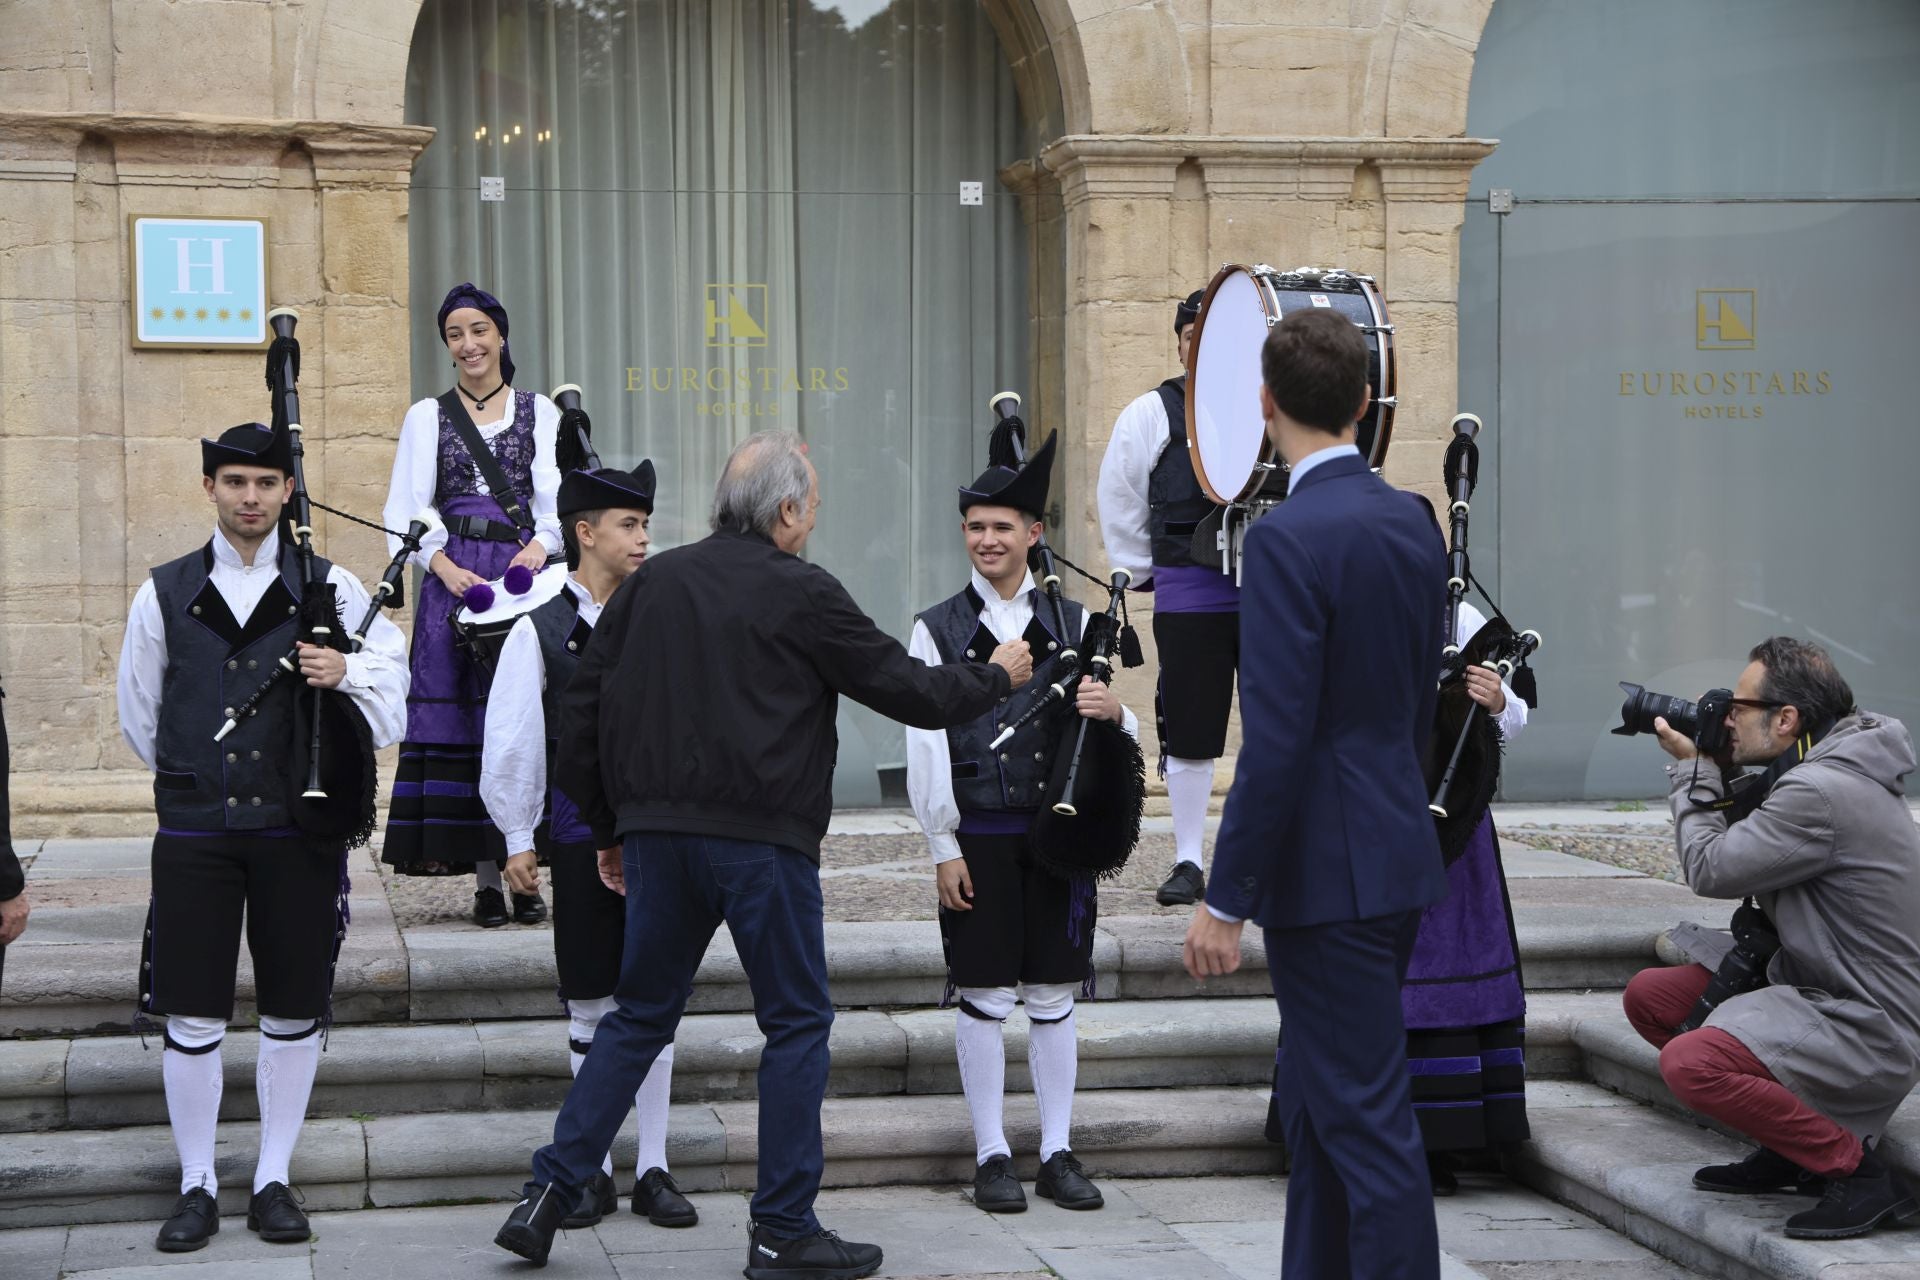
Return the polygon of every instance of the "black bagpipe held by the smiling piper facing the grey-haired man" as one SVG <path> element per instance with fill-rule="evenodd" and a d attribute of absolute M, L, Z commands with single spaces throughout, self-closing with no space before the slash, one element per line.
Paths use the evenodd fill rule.
<path fill-rule="evenodd" d="M 1027 424 L 1020 418 L 1020 395 L 1000 391 L 989 403 L 995 413 L 993 438 L 987 445 L 989 464 L 1020 466 L 1025 461 Z M 1041 589 L 1052 610 L 1054 633 L 1062 649 L 1054 654 L 1056 677 L 1037 687 L 1018 716 L 1010 718 L 991 747 L 998 748 L 1023 725 L 1075 704 L 1081 677 L 1102 683 L 1114 679 L 1116 651 L 1123 666 L 1140 666 L 1140 641 L 1125 622 L 1127 570 L 1114 570 L 1100 581 L 1066 557 L 1058 557 L 1041 533 L 1029 553 L 1029 564 L 1039 574 Z M 1106 587 L 1106 610 L 1089 614 L 1079 635 L 1068 626 L 1066 599 L 1060 593 L 1060 564 Z M 1033 818 L 1027 844 L 1033 860 L 1052 875 L 1069 881 L 1104 881 L 1117 877 L 1133 848 L 1140 842 L 1140 816 L 1146 810 L 1146 758 L 1140 745 L 1112 720 L 1091 720 L 1071 714 L 1062 727 L 1062 748 L 1054 750 L 1041 810 Z"/>

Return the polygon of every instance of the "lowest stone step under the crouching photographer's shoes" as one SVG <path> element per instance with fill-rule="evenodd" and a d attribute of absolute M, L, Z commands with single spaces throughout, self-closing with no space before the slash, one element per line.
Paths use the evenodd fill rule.
<path fill-rule="evenodd" d="M 1920 1230 L 1788 1240 L 1782 1222 L 1814 1201 L 1693 1190 L 1697 1167 L 1740 1159 L 1751 1144 L 1586 1082 L 1536 1084 L 1528 1117 L 1534 1136 L 1511 1161 L 1515 1176 L 1690 1270 L 1722 1280 L 1920 1276 Z"/>

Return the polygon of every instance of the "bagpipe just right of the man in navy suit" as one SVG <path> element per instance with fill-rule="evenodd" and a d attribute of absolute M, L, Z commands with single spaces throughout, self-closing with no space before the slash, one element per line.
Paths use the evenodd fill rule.
<path fill-rule="evenodd" d="M 1434 708 L 1432 741 L 1427 750 L 1427 804 L 1440 833 L 1440 854 L 1452 865 L 1467 852 L 1486 808 L 1500 789 L 1500 725 L 1467 693 L 1467 668 L 1478 666 L 1505 681 L 1515 697 L 1538 706 L 1538 685 L 1528 658 L 1540 649 L 1540 631 L 1515 631 L 1513 624 L 1473 576 L 1467 555 L 1467 516 L 1473 489 L 1480 480 L 1480 418 L 1463 413 L 1453 418 L 1442 476 L 1448 487 L 1448 583 L 1446 637 L 1440 652 L 1440 700 Z M 1459 606 L 1467 587 L 1478 587 L 1494 614 L 1465 645 L 1459 643 Z"/>

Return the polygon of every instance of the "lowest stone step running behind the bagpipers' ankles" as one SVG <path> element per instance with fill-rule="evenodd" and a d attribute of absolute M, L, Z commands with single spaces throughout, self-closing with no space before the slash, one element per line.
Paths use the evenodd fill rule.
<path fill-rule="evenodd" d="M 1263 1088 L 1092 1090 L 1075 1100 L 1073 1148 L 1094 1176 L 1277 1173 L 1265 1142 Z M 753 1186 L 756 1103 L 676 1103 L 668 1163 L 687 1190 Z M 964 1184 L 973 1132 L 960 1096 L 829 1098 L 822 1107 L 824 1186 Z M 294 1153 L 307 1209 L 513 1199 L 551 1109 L 309 1121 Z M 1016 1167 L 1033 1178 L 1039 1115 L 1031 1094 L 1006 1105 Z M 217 1176 L 225 1199 L 252 1178 L 259 1130 L 223 1125 Z M 614 1144 L 622 1184 L 634 1174 L 634 1128 Z M 0 1228 L 159 1221 L 179 1196 L 165 1125 L 0 1134 Z M 624 1190 L 624 1186 L 622 1186 Z M 4 1245 L 0 1245 L 4 1249 Z"/>

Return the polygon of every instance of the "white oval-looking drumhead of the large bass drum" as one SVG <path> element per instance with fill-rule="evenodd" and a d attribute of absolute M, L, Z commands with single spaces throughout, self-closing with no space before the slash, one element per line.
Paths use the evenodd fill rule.
<path fill-rule="evenodd" d="M 1267 309 L 1260 284 L 1246 269 L 1219 280 L 1208 297 L 1200 340 L 1192 353 L 1187 397 L 1192 405 L 1194 449 L 1202 487 L 1231 503 L 1261 480 L 1256 470 L 1267 439 L 1260 416 L 1260 349 L 1267 342 Z"/>

